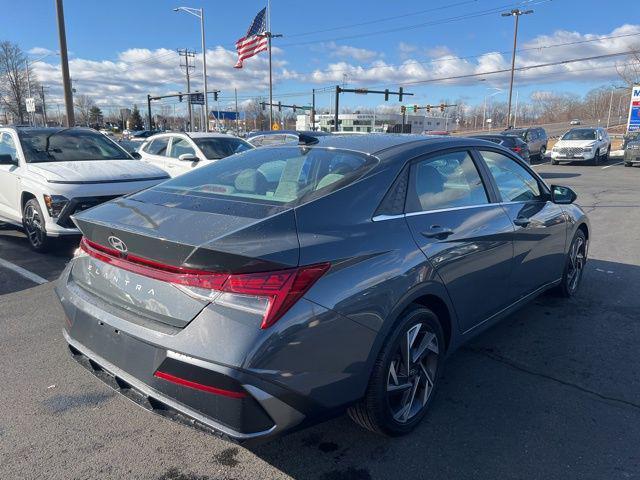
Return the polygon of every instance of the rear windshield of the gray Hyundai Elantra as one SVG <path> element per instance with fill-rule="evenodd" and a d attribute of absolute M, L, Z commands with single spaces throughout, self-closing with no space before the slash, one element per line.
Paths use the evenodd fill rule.
<path fill-rule="evenodd" d="M 271 204 L 298 203 L 355 181 L 376 162 L 369 155 L 336 149 L 258 148 L 197 168 L 154 189 Z"/>

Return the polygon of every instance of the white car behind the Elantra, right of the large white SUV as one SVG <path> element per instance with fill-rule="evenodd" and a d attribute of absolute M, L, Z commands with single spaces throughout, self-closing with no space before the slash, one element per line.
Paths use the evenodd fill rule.
<path fill-rule="evenodd" d="M 148 138 L 139 152 L 144 162 L 175 177 L 252 148 L 241 138 L 223 133 L 161 133 Z"/>

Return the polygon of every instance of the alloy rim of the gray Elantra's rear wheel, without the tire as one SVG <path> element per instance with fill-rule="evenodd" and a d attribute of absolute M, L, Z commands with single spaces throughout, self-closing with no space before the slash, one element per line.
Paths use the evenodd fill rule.
<path fill-rule="evenodd" d="M 418 323 L 400 341 L 387 375 L 387 401 L 393 419 L 405 424 L 426 406 L 435 387 L 438 337 Z"/>

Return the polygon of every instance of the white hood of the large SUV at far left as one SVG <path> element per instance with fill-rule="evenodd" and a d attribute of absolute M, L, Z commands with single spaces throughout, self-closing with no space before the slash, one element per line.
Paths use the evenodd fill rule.
<path fill-rule="evenodd" d="M 50 183 L 135 182 L 168 178 L 165 171 L 139 160 L 88 160 L 30 164 L 28 170 Z"/>

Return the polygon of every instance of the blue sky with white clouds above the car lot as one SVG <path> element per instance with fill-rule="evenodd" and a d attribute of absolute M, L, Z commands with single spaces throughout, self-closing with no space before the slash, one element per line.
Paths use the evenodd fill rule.
<path fill-rule="evenodd" d="M 640 20 L 628 0 L 272 0 L 274 101 L 318 107 L 332 102 L 336 84 L 350 88 L 402 85 L 407 104 L 486 96 L 506 101 L 514 18 L 501 12 L 533 10 L 520 17 L 516 67 L 612 55 L 640 45 Z M 268 98 L 268 60 L 261 53 L 234 69 L 234 43 L 265 6 L 262 0 L 65 0 L 70 70 L 76 94 L 103 109 L 143 107 L 146 95 L 185 91 L 178 48 L 195 50 L 192 89 L 201 89 L 199 20 L 178 6 L 204 8 L 209 89 L 220 108 Z M 0 41 L 29 53 L 32 70 L 47 87 L 49 104 L 61 97 L 58 32 L 53 0 L 0 0 Z M 48 55 L 48 56 L 45 56 Z M 42 58 L 45 56 L 44 58 Z M 42 60 L 37 61 L 42 58 Z M 616 66 L 625 56 L 550 65 L 516 72 L 514 95 L 523 100 L 547 92 L 584 95 L 620 84 Z M 457 78 L 451 78 L 457 77 Z M 165 101 L 174 104 L 173 101 Z M 341 96 L 351 108 L 384 104 L 382 96 Z M 397 99 L 389 101 L 397 105 Z M 178 104 L 178 108 L 184 104 Z M 211 105 L 215 109 L 215 105 Z"/>

